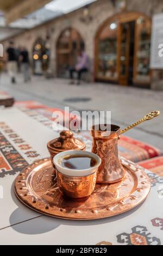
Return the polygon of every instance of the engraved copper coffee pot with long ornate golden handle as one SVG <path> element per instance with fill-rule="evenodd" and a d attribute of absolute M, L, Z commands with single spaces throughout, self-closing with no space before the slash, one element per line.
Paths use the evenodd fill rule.
<path fill-rule="evenodd" d="M 120 138 L 120 135 L 135 127 L 136 125 L 139 125 L 143 121 L 157 117 L 159 114 L 159 111 L 152 111 L 122 131 L 120 126 L 113 124 L 110 125 L 110 131 L 107 129 L 99 130 L 99 125 L 92 126 L 92 153 L 97 154 L 99 157 L 101 157 L 102 160 L 101 166 L 98 168 L 96 180 L 97 183 L 114 183 L 121 181 L 124 178 L 124 169 L 118 159 L 117 142 Z"/>

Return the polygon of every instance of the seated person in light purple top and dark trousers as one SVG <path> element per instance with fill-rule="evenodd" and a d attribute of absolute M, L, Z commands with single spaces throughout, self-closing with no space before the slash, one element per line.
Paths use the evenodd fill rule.
<path fill-rule="evenodd" d="M 74 72 L 77 72 L 77 74 L 78 74 L 77 84 L 80 84 L 81 75 L 83 72 L 87 72 L 88 68 L 89 68 L 89 58 L 88 58 L 86 52 L 79 51 L 78 58 L 77 58 L 77 64 L 73 68 L 70 68 L 70 78 L 71 78 L 70 84 L 74 84 L 74 78 L 73 78 Z"/>

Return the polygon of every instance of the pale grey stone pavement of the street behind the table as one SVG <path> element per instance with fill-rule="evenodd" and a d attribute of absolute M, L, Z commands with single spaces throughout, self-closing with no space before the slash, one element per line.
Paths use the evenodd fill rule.
<path fill-rule="evenodd" d="M 163 92 L 103 83 L 83 82 L 80 86 L 70 86 L 67 80 L 47 80 L 43 76 L 34 76 L 31 82 L 24 83 L 18 75 L 17 83 L 10 84 L 7 74 L 1 76 L 0 90 L 16 100 L 36 100 L 49 107 L 111 111 L 112 123 L 122 128 L 150 111 L 160 110 L 160 117 L 135 127 L 126 135 L 163 150 Z"/>

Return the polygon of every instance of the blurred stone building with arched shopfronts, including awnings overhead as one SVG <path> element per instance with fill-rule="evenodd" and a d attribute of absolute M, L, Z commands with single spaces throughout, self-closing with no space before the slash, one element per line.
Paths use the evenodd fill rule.
<path fill-rule="evenodd" d="M 152 17 L 162 1 L 6 0 L 0 9 L 4 50 L 9 41 L 17 53 L 25 46 L 34 75 L 68 78 L 85 48 L 90 81 L 151 87 Z"/>

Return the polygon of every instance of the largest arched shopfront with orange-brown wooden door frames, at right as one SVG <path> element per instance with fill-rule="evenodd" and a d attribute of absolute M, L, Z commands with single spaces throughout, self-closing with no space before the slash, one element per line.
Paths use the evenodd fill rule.
<path fill-rule="evenodd" d="M 96 34 L 95 79 L 120 84 L 150 83 L 151 20 L 140 13 L 117 14 Z"/>

